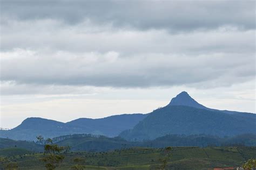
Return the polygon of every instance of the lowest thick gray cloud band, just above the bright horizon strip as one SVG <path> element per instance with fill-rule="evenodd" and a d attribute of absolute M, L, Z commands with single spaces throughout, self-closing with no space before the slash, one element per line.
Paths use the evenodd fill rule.
<path fill-rule="evenodd" d="M 255 75 L 253 54 L 182 56 L 145 53 L 122 57 L 116 52 L 46 55 L 17 50 L 3 56 L 6 58 L 2 59 L 2 80 L 16 83 L 98 87 L 193 86 L 201 83 L 201 87 L 211 88 L 249 81 Z"/>

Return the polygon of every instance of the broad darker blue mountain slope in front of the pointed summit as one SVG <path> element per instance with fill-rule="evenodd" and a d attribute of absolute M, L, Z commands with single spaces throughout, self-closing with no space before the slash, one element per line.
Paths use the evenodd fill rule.
<path fill-rule="evenodd" d="M 126 130 L 119 136 L 134 141 L 155 139 L 166 134 L 204 133 L 216 136 L 234 136 L 255 132 L 256 122 L 253 119 L 185 105 L 167 105 L 154 110 L 132 130 Z"/>

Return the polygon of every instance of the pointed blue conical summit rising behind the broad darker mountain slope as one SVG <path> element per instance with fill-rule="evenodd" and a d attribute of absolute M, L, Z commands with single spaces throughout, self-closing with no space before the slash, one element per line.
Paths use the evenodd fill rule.
<path fill-rule="evenodd" d="M 195 101 L 186 91 L 182 91 L 176 97 L 172 98 L 169 105 L 186 105 L 189 107 L 199 108 L 199 109 L 208 109 L 204 105 L 199 104 Z"/>

